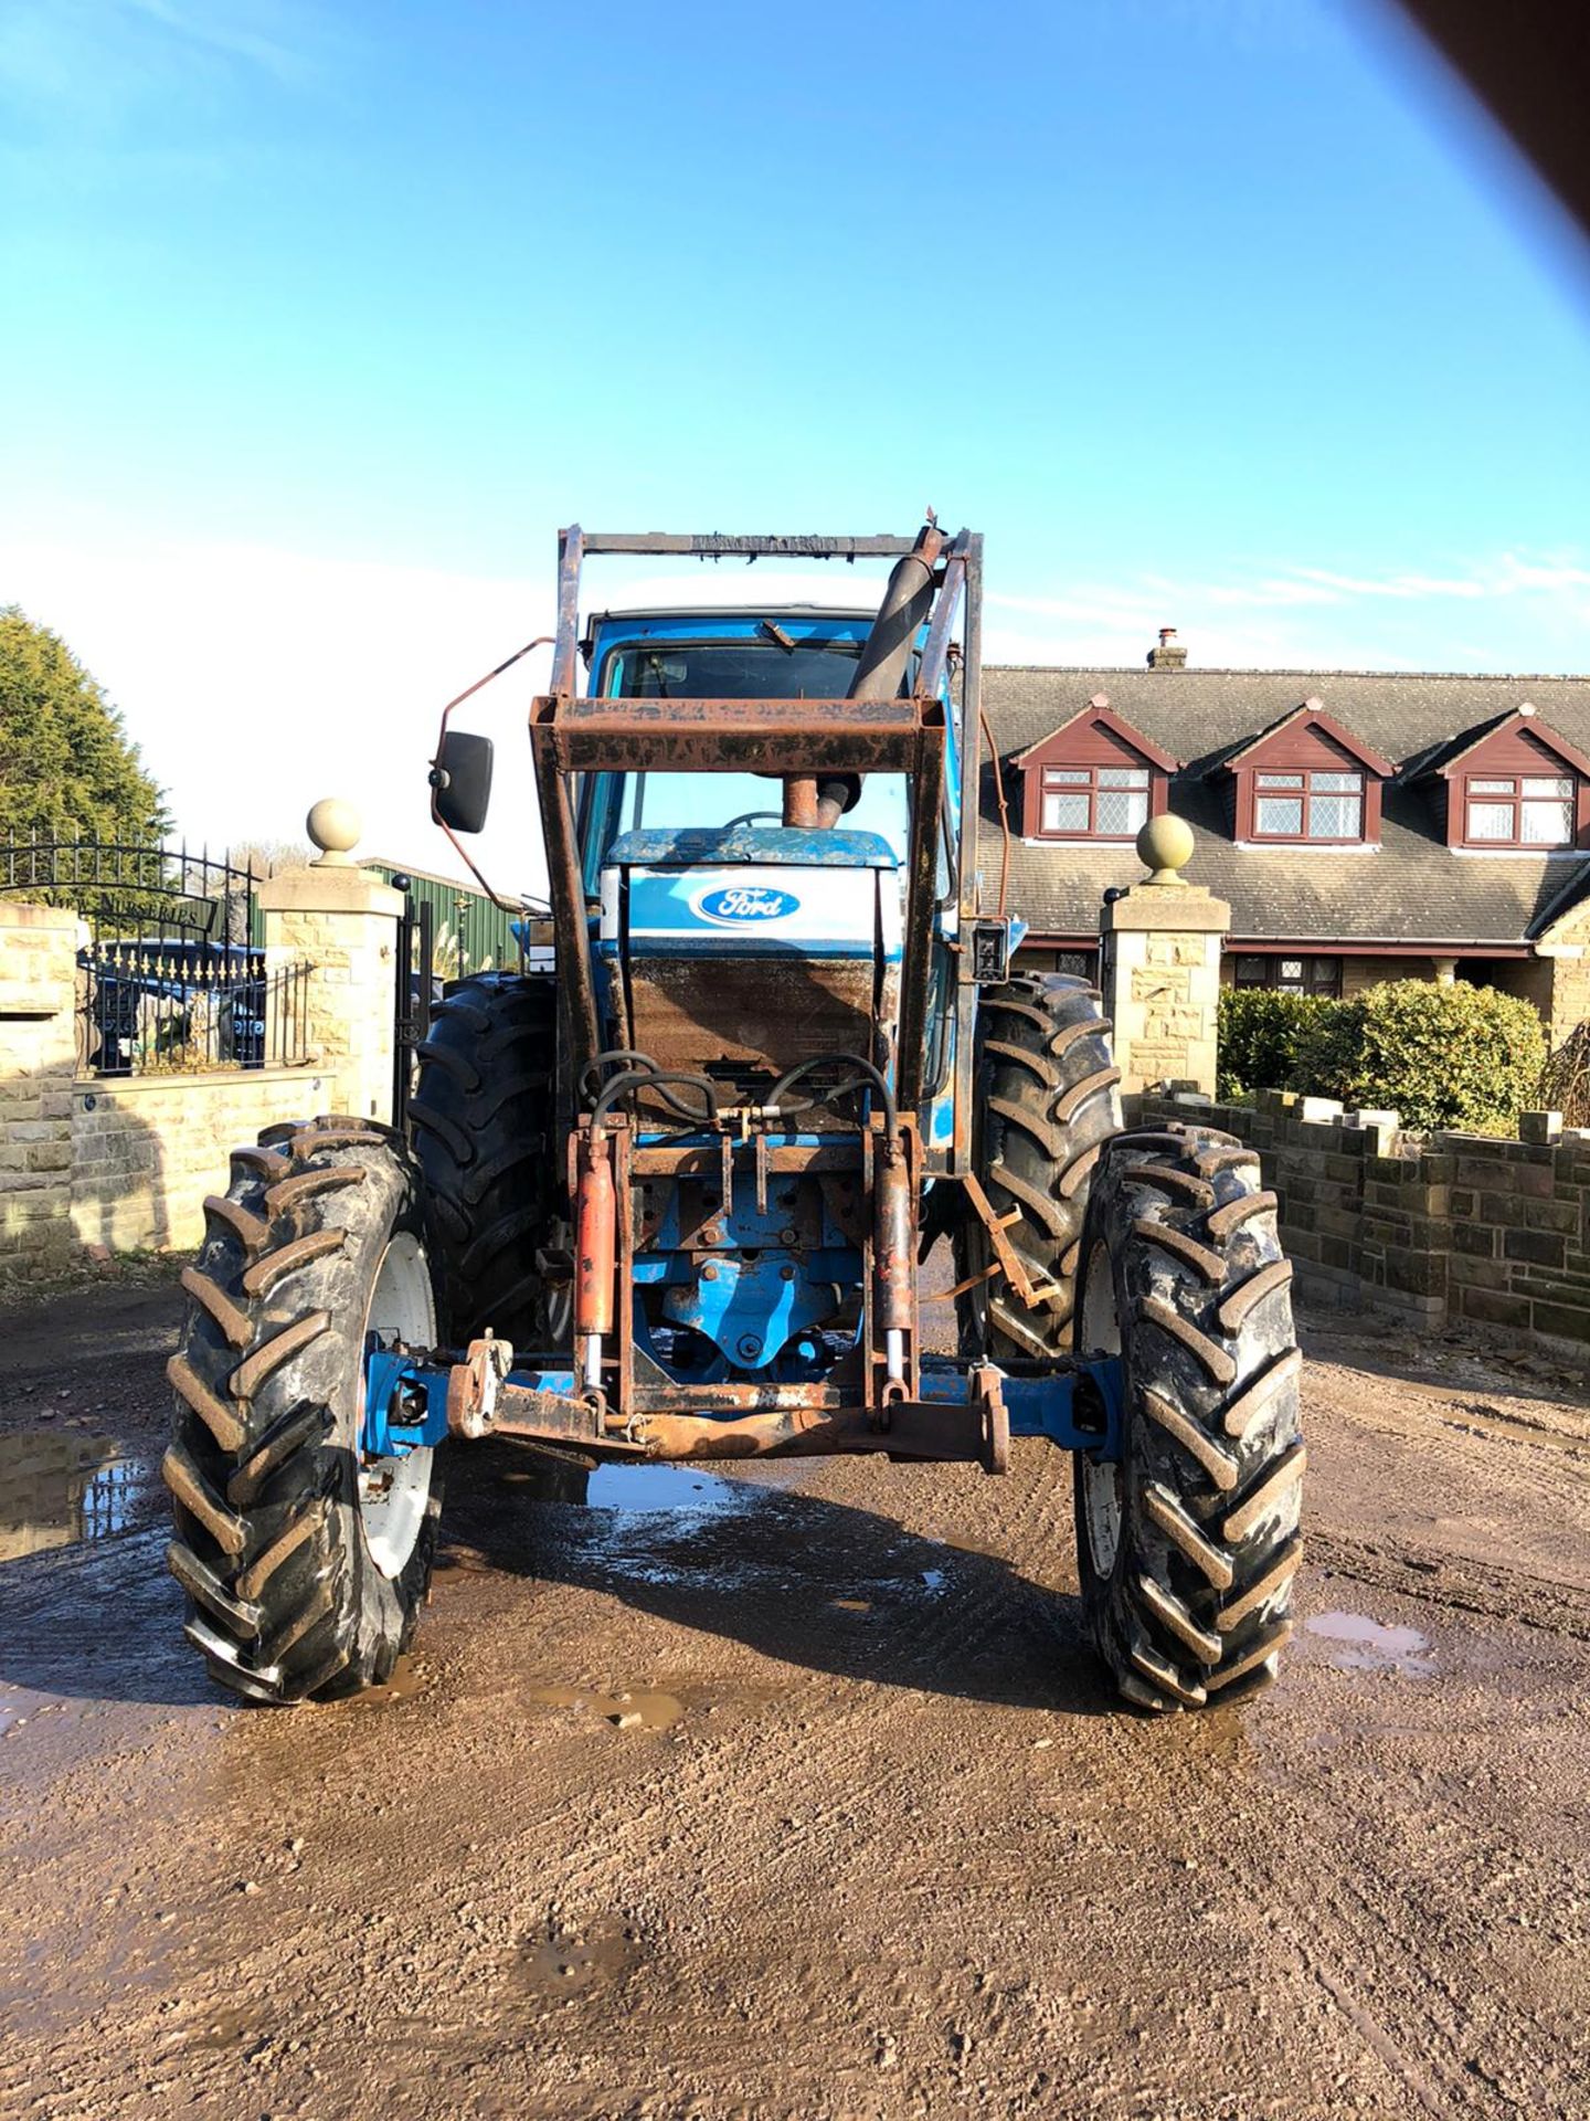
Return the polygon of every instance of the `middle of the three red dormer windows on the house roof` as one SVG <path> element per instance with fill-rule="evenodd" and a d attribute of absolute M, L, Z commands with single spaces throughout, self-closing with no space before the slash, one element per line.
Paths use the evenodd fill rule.
<path fill-rule="evenodd" d="M 1391 759 L 1304 700 L 1225 761 L 1236 838 L 1255 846 L 1378 846 Z"/>

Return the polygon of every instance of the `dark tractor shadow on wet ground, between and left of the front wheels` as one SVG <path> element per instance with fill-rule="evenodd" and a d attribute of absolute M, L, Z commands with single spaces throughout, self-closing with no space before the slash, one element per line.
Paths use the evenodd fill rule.
<path fill-rule="evenodd" d="M 585 1468 L 511 1442 L 449 1459 L 441 1582 L 490 1567 L 598 1591 L 848 1680 L 1085 1716 L 1111 1707 L 1077 1599 L 1005 1557 L 763 1478 L 651 1466 L 587 1480 Z M 174 1707 L 233 1699 L 182 1640 L 163 1493 L 146 1472 L 140 1506 L 112 1536 L 0 1567 L 0 1686 Z M 880 1502 L 895 1483 L 931 1478 L 933 1468 L 880 1463 Z M 1068 1538 L 1056 1523 L 1058 1567 Z"/>

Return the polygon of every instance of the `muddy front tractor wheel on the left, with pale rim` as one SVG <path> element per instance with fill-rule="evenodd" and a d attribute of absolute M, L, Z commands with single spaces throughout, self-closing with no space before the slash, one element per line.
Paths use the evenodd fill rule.
<path fill-rule="evenodd" d="M 437 1345 L 418 1167 L 369 1122 L 276 1126 L 204 1207 L 161 1466 L 189 1640 L 254 1701 L 377 1686 L 441 1514 L 437 1451 L 360 1449 L 365 1336 Z"/>

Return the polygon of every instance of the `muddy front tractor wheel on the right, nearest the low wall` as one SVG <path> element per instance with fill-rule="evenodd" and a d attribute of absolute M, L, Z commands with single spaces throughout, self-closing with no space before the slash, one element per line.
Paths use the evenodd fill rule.
<path fill-rule="evenodd" d="M 1232 1135 L 1172 1126 L 1105 1152 L 1077 1343 L 1119 1353 L 1124 1459 L 1075 1461 L 1077 1567 L 1119 1693 L 1174 1712 L 1276 1671 L 1302 1557 L 1302 1355 L 1276 1196 Z"/>

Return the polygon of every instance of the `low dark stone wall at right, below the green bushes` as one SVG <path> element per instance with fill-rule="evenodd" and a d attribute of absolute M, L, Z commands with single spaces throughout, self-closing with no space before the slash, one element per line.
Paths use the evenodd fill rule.
<path fill-rule="evenodd" d="M 1391 1111 L 1261 1090 L 1253 1105 L 1145 1094 L 1145 1122 L 1202 1120 L 1259 1152 L 1306 1296 L 1412 1326 L 1590 1347 L 1590 1130 L 1524 1114 L 1526 1139 L 1403 1135 Z"/>

